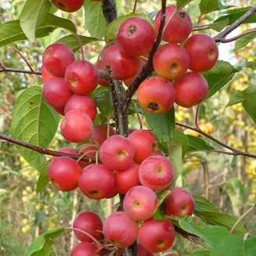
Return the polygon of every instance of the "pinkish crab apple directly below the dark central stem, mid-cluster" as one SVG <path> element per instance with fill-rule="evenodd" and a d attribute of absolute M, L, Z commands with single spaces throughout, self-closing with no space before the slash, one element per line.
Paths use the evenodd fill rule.
<path fill-rule="evenodd" d="M 106 139 L 99 149 L 103 164 L 114 171 L 123 171 L 132 164 L 135 154 L 132 143 L 122 135 Z"/>

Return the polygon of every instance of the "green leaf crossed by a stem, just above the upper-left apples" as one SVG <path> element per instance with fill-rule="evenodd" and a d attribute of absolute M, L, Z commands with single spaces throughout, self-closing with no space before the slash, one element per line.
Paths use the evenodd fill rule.
<path fill-rule="evenodd" d="M 88 43 L 92 41 L 101 41 L 98 38 L 90 38 L 90 37 L 85 37 L 83 35 L 79 36 L 82 45 L 87 45 Z M 78 39 L 74 36 L 74 34 L 69 34 L 66 37 L 59 38 L 56 43 L 60 44 L 65 44 L 67 45 L 70 49 L 72 49 L 73 52 L 78 52 L 80 49 L 80 45 L 78 44 Z"/>

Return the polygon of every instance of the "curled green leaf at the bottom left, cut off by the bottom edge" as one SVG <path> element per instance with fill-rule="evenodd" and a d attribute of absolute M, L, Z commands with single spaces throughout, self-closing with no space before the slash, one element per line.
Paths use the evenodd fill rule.
<path fill-rule="evenodd" d="M 27 247 L 23 256 L 49 256 L 54 240 L 64 231 L 65 229 L 58 228 L 42 233 L 31 243 L 29 247 Z"/>

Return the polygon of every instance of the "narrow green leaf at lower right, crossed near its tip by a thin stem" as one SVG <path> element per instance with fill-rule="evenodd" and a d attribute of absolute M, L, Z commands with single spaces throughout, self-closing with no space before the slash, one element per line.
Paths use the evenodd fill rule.
<path fill-rule="evenodd" d="M 201 218 L 204 222 L 210 225 L 222 225 L 226 229 L 232 229 L 233 225 L 236 223 L 236 219 L 226 215 L 222 212 L 216 211 L 194 211 L 194 214 Z M 244 236 L 247 233 L 247 229 L 244 228 L 242 224 L 236 226 L 234 231 L 236 235 Z"/>

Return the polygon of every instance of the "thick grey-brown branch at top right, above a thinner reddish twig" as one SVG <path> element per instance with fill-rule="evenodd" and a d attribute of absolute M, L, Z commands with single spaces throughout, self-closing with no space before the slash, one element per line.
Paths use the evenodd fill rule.
<path fill-rule="evenodd" d="M 214 39 L 216 42 L 222 41 L 225 39 L 225 37 L 230 34 L 233 30 L 236 29 L 236 27 L 239 27 L 240 24 L 242 24 L 245 20 L 249 19 L 252 15 L 256 13 L 256 5 L 249 9 L 246 13 L 243 14 L 243 16 L 240 16 L 239 19 L 237 19 L 234 23 L 232 23 L 229 27 L 225 28 L 224 31 L 221 33 L 217 34 Z"/>

